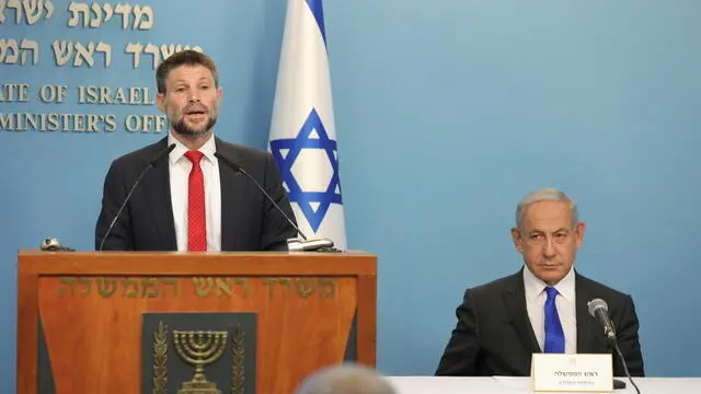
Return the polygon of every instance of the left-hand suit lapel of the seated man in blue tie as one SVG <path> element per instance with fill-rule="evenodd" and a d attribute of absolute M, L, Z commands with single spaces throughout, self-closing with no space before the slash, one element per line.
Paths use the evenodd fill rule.
<path fill-rule="evenodd" d="M 512 320 L 512 325 L 529 352 L 541 352 L 533 327 L 526 309 L 526 290 L 524 288 L 522 269 L 512 276 L 510 283 L 504 291 L 504 302 Z"/>

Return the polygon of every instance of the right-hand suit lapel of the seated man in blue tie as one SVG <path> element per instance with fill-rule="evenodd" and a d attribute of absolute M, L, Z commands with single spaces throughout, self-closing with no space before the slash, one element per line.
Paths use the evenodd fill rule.
<path fill-rule="evenodd" d="M 606 339 L 601 335 L 596 335 L 600 328 L 597 326 L 596 320 L 589 314 L 587 302 L 595 298 L 586 279 L 575 271 L 575 291 L 576 291 L 576 315 L 577 315 L 577 352 L 591 354 L 601 352 L 606 349 Z M 602 332 L 602 331 L 601 331 Z"/>

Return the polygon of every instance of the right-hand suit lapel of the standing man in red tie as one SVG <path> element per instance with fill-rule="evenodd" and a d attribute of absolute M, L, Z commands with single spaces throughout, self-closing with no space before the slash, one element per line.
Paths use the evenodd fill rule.
<path fill-rule="evenodd" d="M 220 139 L 215 139 L 217 151 L 231 159 L 234 163 L 241 164 L 240 158 L 235 150 L 227 149 Z M 244 234 L 239 233 L 241 225 L 237 223 L 245 223 L 242 215 L 243 194 L 241 193 L 242 183 L 245 182 L 243 175 L 237 174 L 232 169 L 227 166 L 221 160 L 219 163 L 219 182 L 221 186 L 221 250 L 235 251 L 237 243 L 243 241 Z"/>

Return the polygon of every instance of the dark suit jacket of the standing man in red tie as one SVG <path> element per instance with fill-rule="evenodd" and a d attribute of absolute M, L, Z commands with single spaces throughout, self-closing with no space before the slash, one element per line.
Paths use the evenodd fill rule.
<path fill-rule="evenodd" d="M 295 220 L 273 157 L 262 150 L 215 139 L 217 151 L 249 172 L 287 216 Z M 168 138 L 112 162 L 104 183 L 95 227 L 95 250 L 137 177 L 166 148 Z M 221 250 L 287 250 L 296 231 L 250 179 L 219 162 L 221 179 Z M 176 251 L 168 158 L 161 158 L 134 190 L 105 241 L 105 251 Z"/>

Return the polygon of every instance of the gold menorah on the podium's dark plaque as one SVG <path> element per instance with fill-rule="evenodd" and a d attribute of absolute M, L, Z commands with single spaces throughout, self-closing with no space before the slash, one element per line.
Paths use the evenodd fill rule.
<path fill-rule="evenodd" d="M 205 366 L 227 349 L 227 332 L 173 331 L 173 341 L 180 357 L 195 366 L 193 380 L 183 382 L 177 394 L 221 394 L 217 384 L 205 378 Z"/>

